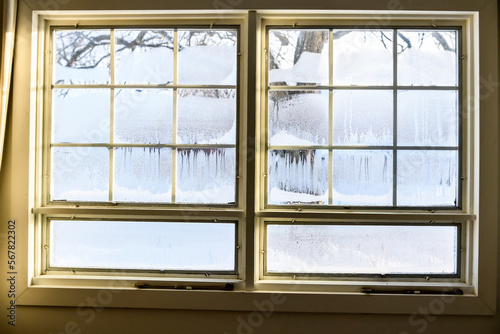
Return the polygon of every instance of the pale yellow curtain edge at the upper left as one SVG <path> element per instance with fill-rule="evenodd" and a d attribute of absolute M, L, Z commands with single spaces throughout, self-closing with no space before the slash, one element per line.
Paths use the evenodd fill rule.
<path fill-rule="evenodd" d="M 14 35 L 16 31 L 17 0 L 3 0 L 2 63 L 0 80 L 2 84 L 2 104 L 0 118 L 0 168 L 2 166 L 7 109 L 9 106 L 12 62 L 14 56 Z"/>

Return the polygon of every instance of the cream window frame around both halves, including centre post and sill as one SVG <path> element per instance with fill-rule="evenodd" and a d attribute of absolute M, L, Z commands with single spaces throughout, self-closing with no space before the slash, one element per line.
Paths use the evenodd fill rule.
<path fill-rule="evenodd" d="M 138 289 L 135 284 L 138 277 L 130 275 L 53 275 L 47 277 L 41 272 L 41 237 L 42 224 L 41 215 L 64 214 L 64 208 L 40 207 L 39 199 L 41 190 L 35 179 L 35 172 L 40 171 L 40 147 L 38 143 L 41 138 L 39 127 L 40 108 L 43 107 L 43 73 L 46 68 L 40 66 L 43 59 L 44 47 L 43 37 L 46 25 L 51 20 L 59 20 L 69 25 L 77 25 L 85 22 L 98 24 L 109 22 L 111 19 L 127 22 L 131 20 L 138 22 L 144 18 L 161 21 L 170 18 L 175 21 L 196 19 L 212 23 L 214 20 L 224 20 L 226 23 L 231 19 L 241 24 L 241 50 L 243 71 L 240 87 L 244 94 L 241 95 L 240 112 L 247 120 L 247 128 L 241 128 L 242 140 L 248 142 L 245 146 L 246 169 L 244 168 L 242 178 L 248 181 L 239 187 L 240 205 L 238 210 L 220 210 L 220 217 L 236 217 L 239 221 L 240 234 L 243 238 L 240 248 L 241 277 L 239 279 L 215 279 L 203 278 L 186 279 L 140 277 L 143 283 L 157 286 L 157 289 Z M 87 20 L 87 21 L 86 21 Z M 102 21 L 100 21 L 102 20 Z M 464 156 L 463 172 L 466 175 L 462 190 L 462 199 L 467 205 L 463 205 L 458 211 L 436 211 L 429 213 L 397 211 L 377 212 L 365 210 L 356 213 L 339 211 L 335 212 L 335 219 L 354 220 L 429 220 L 430 216 L 440 220 L 449 221 L 471 221 L 467 224 L 467 247 L 465 258 L 463 282 L 416 282 L 416 281 L 297 281 L 269 280 L 261 275 L 261 242 L 263 240 L 263 224 L 266 219 L 292 219 L 298 221 L 311 221 L 331 219 L 331 212 L 321 210 L 296 209 L 274 210 L 264 207 L 262 196 L 258 196 L 265 189 L 262 178 L 264 160 L 262 148 L 265 147 L 265 136 L 262 135 L 265 115 L 265 105 L 262 94 L 265 94 L 263 85 L 264 59 L 262 48 L 265 41 L 265 26 L 294 25 L 294 24 L 324 24 L 331 25 L 332 21 L 342 24 L 353 21 L 369 22 L 379 25 L 419 25 L 419 26 L 461 26 L 464 38 L 464 62 L 463 76 L 463 106 L 468 112 L 464 131 L 462 150 Z M 185 21 L 184 21 L 185 22 Z M 28 266 L 24 270 L 27 283 L 22 287 L 23 292 L 18 299 L 18 305 L 51 305 L 51 306 L 79 306 L 88 296 L 96 296 L 97 300 L 105 300 L 102 306 L 125 307 L 125 308 L 160 308 L 160 309 L 206 309 L 206 310 L 236 310 L 236 311 L 261 311 L 260 305 L 271 301 L 274 311 L 283 312 L 338 312 L 338 313 L 392 313 L 411 314 L 416 312 L 420 306 L 429 306 L 436 300 L 446 307 L 442 314 L 494 314 L 496 311 L 496 255 L 488 255 L 487 250 L 496 250 L 496 222 L 491 220 L 491 209 L 484 210 L 480 215 L 480 209 L 484 208 L 481 199 L 484 200 L 486 193 L 479 192 L 479 17 L 477 12 L 405 12 L 400 11 L 223 11 L 223 12 L 64 12 L 64 11 L 34 11 L 33 12 L 33 38 L 32 38 L 32 76 L 31 76 L 31 128 L 30 133 L 30 221 L 28 225 L 29 252 L 27 256 Z M 244 38 L 243 36 L 248 36 Z M 253 73 L 256 73 L 255 76 Z M 253 87 L 257 87 L 254 91 Z M 253 108 L 257 112 L 253 112 Z M 248 108 L 248 109 L 247 109 Z M 247 114 L 248 110 L 248 114 Z M 242 122 L 243 123 L 243 122 Z M 241 126 L 241 125 L 240 125 Z M 491 129 L 491 128 L 490 128 Z M 496 127 L 494 127 L 496 129 Z M 248 131 L 247 131 L 248 130 Z M 253 140 L 256 138 L 255 162 L 253 161 Z M 38 154 L 38 155 L 37 155 Z M 264 167 L 264 169 L 262 169 Z M 256 182 L 252 182 L 255 180 Z M 483 184 L 487 181 L 482 181 Z M 245 188 L 246 189 L 243 189 Z M 487 201 L 485 201 L 487 202 Z M 481 204 L 481 206 L 480 206 Z M 248 210 L 245 212 L 244 207 Z M 213 211 L 206 208 L 202 212 L 195 213 L 196 217 L 213 216 Z M 103 209 L 93 209 L 88 212 L 82 211 L 82 215 L 96 215 Z M 145 213 L 148 211 L 148 213 Z M 130 211 L 116 211 L 117 214 L 126 215 L 128 219 L 148 214 L 151 217 L 162 214 L 160 209 L 139 209 Z M 481 212 L 482 213 L 482 212 Z M 170 217 L 169 217 L 170 218 Z M 175 217 L 174 217 L 175 218 Z M 481 218 L 481 219 L 480 219 Z M 254 237 L 255 236 L 255 237 Z M 481 256 L 479 256 L 481 253 Z M 165 285 L 181 282 L 184 285 L 204 285 L 208 282 L 234 283 L 234 291 L 177 291 L 163 289 Z M 400 295 L 398 293 L 376 294 L 367 296 L 361 292 L 361 288 L 389 287 L 393 290 L 415 289 L 434 290 L 460 288 L 464 291 L 461 296 L 439 296 L 433 294 Z M 50 294 L 50 301 L 44 296 Z"/>

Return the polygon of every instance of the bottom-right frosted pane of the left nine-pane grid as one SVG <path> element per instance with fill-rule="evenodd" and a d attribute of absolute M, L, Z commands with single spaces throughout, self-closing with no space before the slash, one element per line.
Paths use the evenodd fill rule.
<path fill-rule="evenodd" d="M 235 185 L 235 149 L 177 149 L 176 202 L 233 203 L 235 202 Z"/>

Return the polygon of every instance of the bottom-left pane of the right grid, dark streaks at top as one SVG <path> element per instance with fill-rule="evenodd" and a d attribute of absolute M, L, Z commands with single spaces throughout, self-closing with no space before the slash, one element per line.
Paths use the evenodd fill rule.
<path fill-rule="evenodd" d="M 328 204 L 327 150 L 269 150 L 269 204 Z"/>

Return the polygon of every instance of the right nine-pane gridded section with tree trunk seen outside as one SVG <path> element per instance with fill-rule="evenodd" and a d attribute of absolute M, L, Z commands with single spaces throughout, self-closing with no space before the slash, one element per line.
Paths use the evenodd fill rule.
<path fill-rule="evenodd" d="M 459 29 L 267 37 L 266 206 L 461 206 Z"/>

